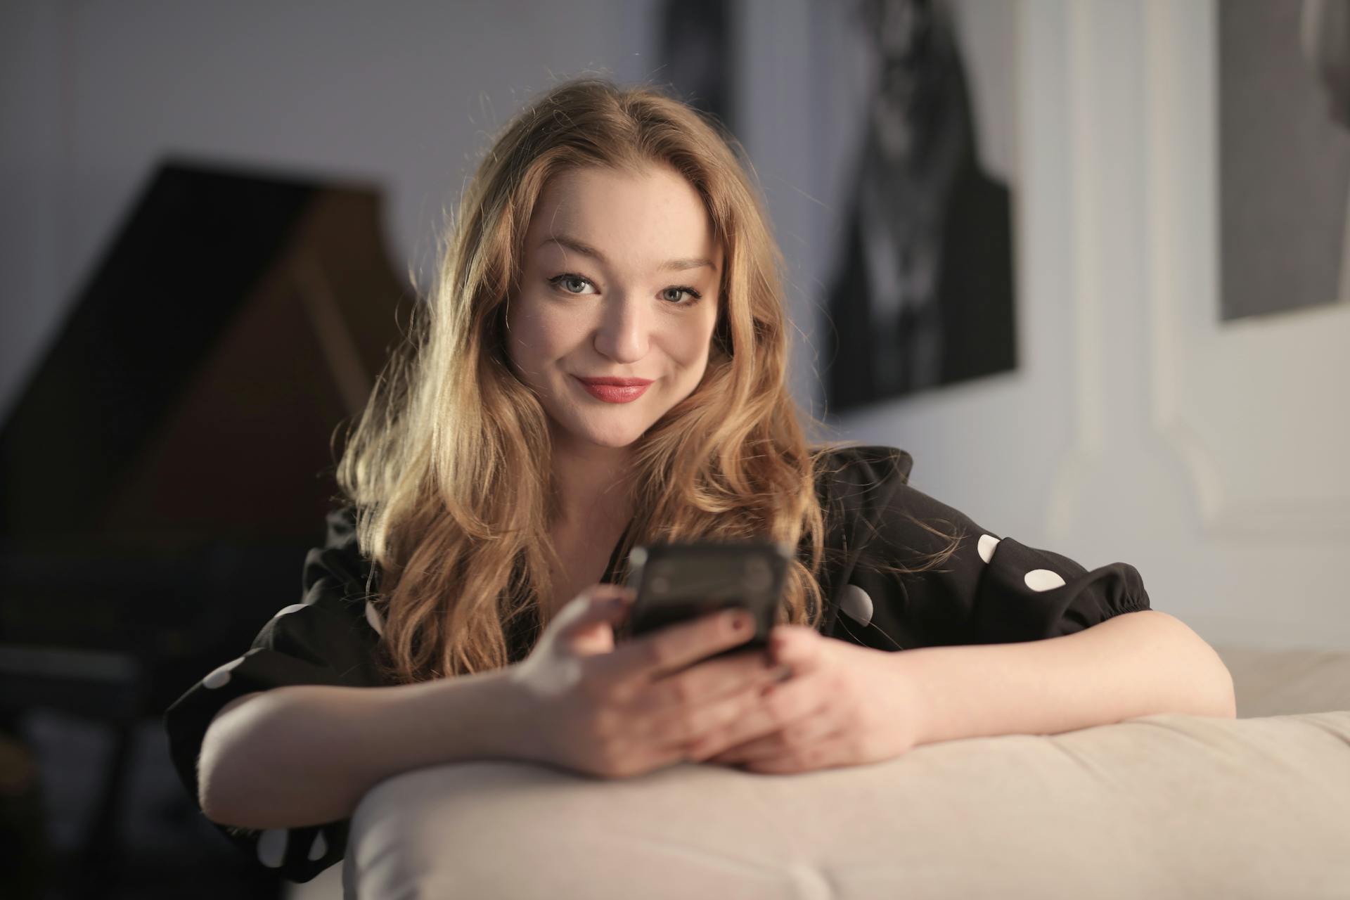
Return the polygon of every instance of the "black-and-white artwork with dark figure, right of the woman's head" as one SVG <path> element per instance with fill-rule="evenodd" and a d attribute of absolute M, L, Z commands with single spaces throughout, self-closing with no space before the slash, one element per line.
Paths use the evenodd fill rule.
<path fill-rule="evenodd" d="M 837 19 L 822 28 L 836 35 L 822 105 L 856 109 L 829 198 L 840 210 L 822 285 L 830 413 L 1017 367 L 1017 7 L 819 7 Z"/>

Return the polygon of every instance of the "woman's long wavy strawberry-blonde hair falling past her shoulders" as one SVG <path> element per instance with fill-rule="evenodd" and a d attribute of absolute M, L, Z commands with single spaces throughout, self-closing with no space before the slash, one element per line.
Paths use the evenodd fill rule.
<path fill-rule="evenodd" d="M 549 429 L 508 363 L 505 313 L 536 201 L 558 173 L 582 166 L 670 166 L 702 197 L 725 259 L 703 379 L 633 445 L 636 515 L 621 559 L 655 540 L 786 541 L 806 553 L 790 568 L 779 622 L 819 625 L 815 483 L 830 447 L 807 445 L 802 422 L 813 437 L 821 422 L 787 390 L 783 260 L 738 152 L 716 121 L 656 88 L 578 78 L 531 103 L 483 157 L 429 302 L 338 466 L 379 575 L 383 667 L 396 680 L 508 664 L 508 627 L 552 596 Z"/>

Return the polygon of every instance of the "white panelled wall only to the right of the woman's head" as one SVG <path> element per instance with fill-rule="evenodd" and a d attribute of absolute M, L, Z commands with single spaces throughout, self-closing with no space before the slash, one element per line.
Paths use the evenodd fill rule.
<path fill-rule="evenodd" d="M 1350 645 L 1350 309 L 1218 321 L 1214 7 L 965 5 L 968 49 L 992 40 L 991 19 L 1017 36 L 1003 155 L 1017 166 L 1021 367 L 842 417 L 837 434 L 909 449 L 915 487 L 995 534 L 1088 568 L 1137 565 L 1154 609 L 1212 644 Z M 828 136 L 780 135 L 848 120 L 791 97 L 810 90 L 791 61 L 830 46 L 814 12 L 747 5 L 778 32 L 747 61 L 742 139 L 801 251 L 803 325 L 818 321 L 838 213 L 806 194 L 830 184 L 837 154 Z M 818 409 L 814 352 L 794 383 Z"/>

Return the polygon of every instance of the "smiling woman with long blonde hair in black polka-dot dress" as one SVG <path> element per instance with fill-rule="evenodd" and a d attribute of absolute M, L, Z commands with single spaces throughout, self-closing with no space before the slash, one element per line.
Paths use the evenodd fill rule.
<path fill-rule="evenodd" d="M 304 602 L 166 715 L 207 816 L 305 881 L 370 787 L 439 762 L 807 772 L 1231 715 L 1133 567 L 1000 540 L 911 488 L 903 451 L 809 448 L 779 267 L 690 108 L 580 80 L 521 112 L 347 444 Z M 749 536 L 799 548 L 768 653 L 705 660 L 748 637 L 722 614 L 616 645 L 629 548 Z"/>

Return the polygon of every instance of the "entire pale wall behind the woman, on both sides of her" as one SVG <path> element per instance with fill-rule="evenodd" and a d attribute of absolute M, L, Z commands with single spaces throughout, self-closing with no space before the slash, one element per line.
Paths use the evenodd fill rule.
<path fill-rule="evenodd" d="M 377 181 L 390 258 L 425 270 L 483 132 L 551 73 L 652 74 L 653 8 L 0 7 L 0 402 L 162 152 Z M 813 0 L 737 9 L 772 38 L 740 58 L 740 132 L 810 335 L 837 210 L 803 59 L 828 35 Z M 1015 131 L 983 150 L 1017 185 L 1022 367 L 849 417 L 841 436 L 907 448 L 919 490 L 996 534 L 1133 563 L 1154 607 L 1211 642 L 1350 645 L 1350 316 L 1218 324 L 1211 4 L 986 3 L 960 24 L 968 46 L 1017 38 Z M 803 345 L 792 383 L 819 412 L 814 364 Z"/>

